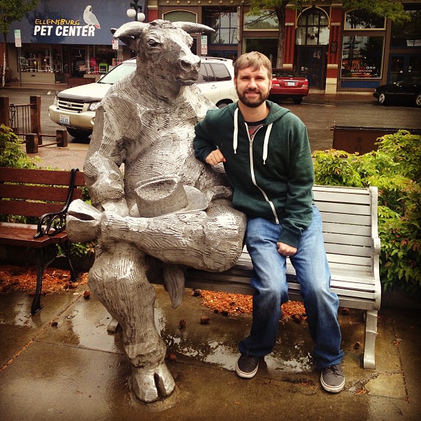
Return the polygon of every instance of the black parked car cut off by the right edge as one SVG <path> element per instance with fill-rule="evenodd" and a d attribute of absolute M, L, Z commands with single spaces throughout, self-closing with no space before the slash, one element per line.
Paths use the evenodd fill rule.
<path fill-rule="evenodd" d="M 421 74 L 420 72 L 398 74 L 393 83 L 376 87 L 373 96 L 381 105 L 402 102 L 421 107 Z"/>

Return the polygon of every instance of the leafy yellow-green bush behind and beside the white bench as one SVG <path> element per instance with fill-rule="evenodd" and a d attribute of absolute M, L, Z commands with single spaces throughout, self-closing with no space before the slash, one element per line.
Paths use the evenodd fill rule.
<path fill-rule="evenodd" d="M 378 150 L 358 155 L 315 151 L 316 184 L 378 187 L 380 280 L 421 292 L 421 136 L 400 130 L 377 142 Z"/>

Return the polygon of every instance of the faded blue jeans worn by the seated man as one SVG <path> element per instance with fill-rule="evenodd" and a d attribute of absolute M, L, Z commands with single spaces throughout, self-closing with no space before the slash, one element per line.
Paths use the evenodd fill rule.
<path fill-rule="evenodd" d="M 263 218 L 248 220 L 246 245 L 254 273 L 251 286 L 253 322 L 239 351 L 252 356 L 272 352 L 277 340 L 281 304 L 288 301 L 286 258 L 277 251 L 282 227 Z M 330 292 L 330 269 L 326 259 L 319 209 L 313 206 L 313 219 L 301 236 L 296 255 L 290 257 L 301 286 L 307 322 L 312 336 L 313 358 L 318 369 L 339 364 L 344 356 L 337 320 L 338 296 Z"/>

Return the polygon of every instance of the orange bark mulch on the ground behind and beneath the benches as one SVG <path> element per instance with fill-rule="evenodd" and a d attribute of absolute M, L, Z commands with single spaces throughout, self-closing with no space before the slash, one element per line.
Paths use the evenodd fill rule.
<path fill-rule="evenodd" d="M 87 285 L 87 272 L 79 274 L 77 282 L 70 281 L 68 270 L 58 268 L 45 269 L 43 276 L 43 294 L 67 291 Z M 35 294 L 36 270 L 34 266 L 21 267 L 12 265 L 0 265 L 0 294 L 8 291 L 23 291 L 30 295 Z M 202 305 L 226 316 L 232 314 L 251 314 L 252 296 L 242 294 L 228 294 L 205 290 L 194 290 L 193 295 L 202 299 Z M 293 319 L 301 322 L 306 319 L 303 303 L 288 301 L 282 305 L 283 319 Z"/>

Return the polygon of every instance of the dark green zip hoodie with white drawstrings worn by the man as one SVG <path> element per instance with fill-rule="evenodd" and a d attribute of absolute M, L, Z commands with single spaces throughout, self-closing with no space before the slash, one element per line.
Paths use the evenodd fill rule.
<path fill-rule="evenodd" d="M 288 109 L 266 103 L 270 112 L 251 139 L 237 102 L 210 109 L 195 127 L 195 156 L 205 162 L 220 149 L 233 206 L 248 217 L 281 224 L 279 241 L 298 247 L 312 221 L 314 169 L 307 129 Z"/>

